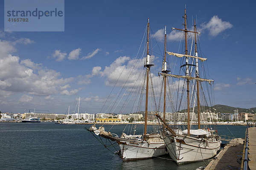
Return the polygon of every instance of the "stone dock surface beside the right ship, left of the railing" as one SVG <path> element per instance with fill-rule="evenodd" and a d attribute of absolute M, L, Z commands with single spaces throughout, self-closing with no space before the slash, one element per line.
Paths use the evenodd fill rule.
<path fill-rule="evenodd" d="M 233 139 L 218 153 L 215 159 L 210 161 L 204 170 L 240 170 L 239 161 L 241 162 L 243 149 L 244 139 Z"/>

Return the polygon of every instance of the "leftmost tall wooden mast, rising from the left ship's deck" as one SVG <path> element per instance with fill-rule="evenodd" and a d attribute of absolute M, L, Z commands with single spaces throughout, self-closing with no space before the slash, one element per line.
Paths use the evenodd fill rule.
<path fill-rule="evenodd" d="M 144 126 L 144 141 L 146 140 L 147 134 L 147 118 L 148 118 L 148 79 L 150 67 L 153 64 L 151 63 L 151 55 L 149 55 L 149 18 L 148 18 L 148 40 L 147 40 L 147 56 L 144 67 L 147 69 L 147 84 L 146 84 L 146 103 L 145 103 L 145 126 Z"/>

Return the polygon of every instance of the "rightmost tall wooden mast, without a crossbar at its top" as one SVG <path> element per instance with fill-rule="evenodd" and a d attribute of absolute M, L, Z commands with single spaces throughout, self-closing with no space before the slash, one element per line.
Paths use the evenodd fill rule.
<path fill-rule="evenodd" d="M 196 44 L 196 26 L 195 26 L 195 20 L 194 20 L 194 31 L 195 31 L 195 57 L 198 57 L 197 53 L 197 44 Z M 199 78 L 199 72 L 198 72 L 198 59 L 195 59 L 195 74 L 196 77 Z M 196 81 L 196 88 L 197 88 L 197 104 L 198 104 L 198 129 L 200 129 L 200 101 L 199 101 L 199 81 Z"/>

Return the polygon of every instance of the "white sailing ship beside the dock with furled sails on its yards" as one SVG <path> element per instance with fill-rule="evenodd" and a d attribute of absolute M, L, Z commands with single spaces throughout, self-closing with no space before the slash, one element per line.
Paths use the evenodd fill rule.
<path fill-rule="evenodd" d="M 170 126 L 166 123 L 165 117 L 162 118 L 158 114 L 156 114 L 156 116 L 160 119 L 160 122 L 163 123 L 162 124 L 163 134 L 164 134 L 163 136 L 164 136 L 164 141 L 166 143 L 168 153 L 177 164 L 210 159 L 215 155 L 217 155 L 217 151 L 220 150 L 220 147 L 221 147 L 221 140 L 220 140 L 220 137 L 218 136 L 217 130 L 212 130 L 211 127 L 207 127 L 207 126 L 205 126 L 204 128 L 201 128 L 200 118 L 204 117 L 202 116 L 204 113 L 201 113 L 201 109 L 200 109 L 199 86 L 201 85 L 201 82 L 209 82 L 209 84 L 211 84 L 213 80 L 200 78 L 199 71 L 198 71 L 198 60 L 201 60 L 202 62 L 207 60 L 206 58 L 198 57 L 196 34 L 201 34 L 201 33 L 197 32 L 196 26 L 194 26 L 194 31 L 187 30 L 186 9 L 185 9 L 185 15 L 183 18 L 184 18 L 184 24 L 183 24 L 184 29 L 178 29 L 178 28 L 172 28 L 172 29 L 176 29 L 184 32 L 185 54 L 177 54 L 177 53 L 166 52 L 166 51 L 165 53 L 175 57 L 181 57 L 183 59 L 185 58 L 185 64 L 180 67 L 180 68 L 184 67 L 183 70 L 185 72 L 185 75 L 169 74 L 169 71 L 167 71 L 167 68 L 166 68 L 166 57 L 164 57 L 163 69 L 162 69 L 162 73 L 160 74 L 163 76 L 163 79 L 165 80 L 165 82 L 167 77 L 184 79 L 183 87 L 186 87 L 186 89 L 184 88 L 185 90 L 183 90 L 183 92 L 187 91 L 187 95 L 186 95 L 187 96 L 187 99 L 186 99 L 187 127 L 185 127 L 185 129 L 183 130 L 179 126 L 176 126 L 176 127 Z M 188 54 L 188 48 L 187 48 L 188 33 L 195 34 L 195 55 L 194 56 Z M 195 64 L 193 64 L 193 62 L 195 62 Z M 195 72 L 194 76 L 192 76 L 193 71 Z M 196 93 L 195 92 L 193 93 L 194 93 L 195 101 L 197 101 L 197 111 L 198 111 L 198 115 L 197 115 L 198 127 L 193 130 L 191 129 L 191 124 L 190 124 L 190 122 L 192 121 L 191 120 L 192 118 L 190 115 L 191 100 L 189 99 L 189 97 L 191 96 L 191 94 L 189 94 L 190 81 L 191 82 L 194 81 L 194 83 L 192 84 L 196 85 L 196 88 L 195 88 Z M 166 89 L 166 83 L 165 83 L 165 89 Z M 200 89 L 202 89 L 202 86 Z M 194 88 L 192 91 L 194 91 Z M 203 98 L 205 98 L 205 96 Z M 165 102 L 166 102 L 166 99 L 164 95 L 164 106 L 163 106 L 164 115 L 166 110 Z"/>

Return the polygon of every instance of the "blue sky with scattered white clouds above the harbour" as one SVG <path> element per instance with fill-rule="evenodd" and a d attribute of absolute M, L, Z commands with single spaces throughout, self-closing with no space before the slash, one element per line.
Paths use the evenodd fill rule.
<path fill-rule="evenodd" d="M 182 28 L 185 4 L 190 26 L 197 16 L 215 104 L 256 107 L 256 2 L 65 0 L 63 32 L 5 32 L 0 13 L 0 111 L 64 113 L 81 96 L 80 112 L 99 113 L 116 81 L 108 69 L 135 57 L 148 17 L 160 50 L 166 25 L 167 48 L 176 52 L 171 28 Z"/>

